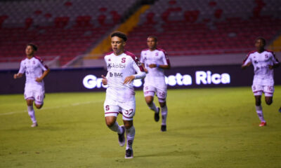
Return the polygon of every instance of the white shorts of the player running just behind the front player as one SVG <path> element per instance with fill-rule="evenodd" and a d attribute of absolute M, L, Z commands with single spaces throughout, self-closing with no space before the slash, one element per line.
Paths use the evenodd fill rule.
<path fill-rule="evenodd" d="M 145 95 L 145 97 L 148 96 L 154 97 L 155 93 L 160 103 L 166 102 L 166 94 L 167 94 L 166 90 L 154 87 L 152 85 L 143 85 L 143 94 Z"/>

